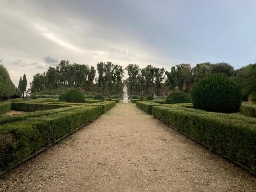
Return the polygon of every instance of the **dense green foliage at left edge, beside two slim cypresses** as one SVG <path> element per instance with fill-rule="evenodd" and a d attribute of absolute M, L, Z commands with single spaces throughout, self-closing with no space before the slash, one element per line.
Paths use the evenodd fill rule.
<path fill-rule="evenodd" d="M 1 64 L 0 60 L 0 101 L 5 98 L 9 98 L 15 93 L 15 85 L 10 79 L 9 72 Z"/>

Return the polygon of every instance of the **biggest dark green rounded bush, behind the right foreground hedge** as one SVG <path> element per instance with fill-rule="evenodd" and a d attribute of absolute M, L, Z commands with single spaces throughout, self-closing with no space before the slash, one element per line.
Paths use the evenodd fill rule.
<path fill-rule="evenodd" d="M 221 74 L 212 74 L 200 80 L 191 90 L 195 109 L 212 112 L 233 113 L 239 111 L 242 89 Z"/>

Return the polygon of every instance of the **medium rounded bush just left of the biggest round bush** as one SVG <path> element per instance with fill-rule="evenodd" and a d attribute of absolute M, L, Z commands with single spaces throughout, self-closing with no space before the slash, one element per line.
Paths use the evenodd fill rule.
<path fill-rule="evenodd" d="M 191 103 L 191 100 L 186 93 L 182 91 L 173 91 L 166 97 L 165 103 Z"/>

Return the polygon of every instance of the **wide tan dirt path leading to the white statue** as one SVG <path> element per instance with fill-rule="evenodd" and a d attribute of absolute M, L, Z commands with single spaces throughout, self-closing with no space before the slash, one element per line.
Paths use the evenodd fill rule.
<path fill-rule="evenodd" d="M 0 191 L 254 192 L 256 178 L 147 115 L 118 104 L 0 180 Z"/>

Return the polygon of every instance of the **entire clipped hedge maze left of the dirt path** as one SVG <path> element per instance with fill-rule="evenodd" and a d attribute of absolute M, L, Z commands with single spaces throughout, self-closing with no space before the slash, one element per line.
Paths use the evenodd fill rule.
<path fill-rule="evenodd" d="M 0 104 L 0 171 L 13 168 L 114 107 L 117 99 L 88 103 L 66 103 L 57 99 L 14 99 Z M 119 101 L 119 100 L 118 100 Z"/>

